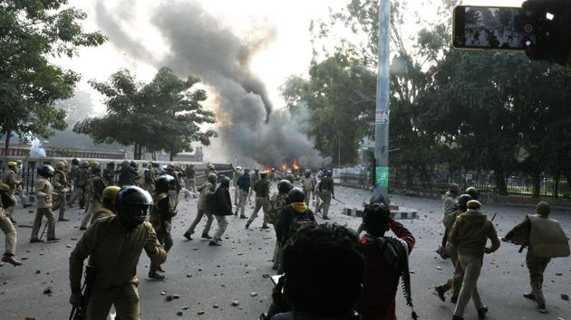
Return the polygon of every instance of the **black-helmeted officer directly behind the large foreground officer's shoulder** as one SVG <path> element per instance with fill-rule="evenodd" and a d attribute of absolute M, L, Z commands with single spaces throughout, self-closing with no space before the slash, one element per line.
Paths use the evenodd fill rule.
<path fill-rule="evenodd" d="M 172 247 L 172 237 L 170 236 L 172 218 L 177 215 L 176 208 L 169 201 L 169 191 L 175 183 L 175 178 L 169 174 L 161 175 L 155 180 L 155 192 L 152 195 L 154 204 L 150 211 L 150 223 L 157 232 L 157 239 L 167 252 Z M 151 261 L 149 278 L 164 279 L 165 277 L 157 271 L 164 272 L 160 268 L 160 264 Z"/>

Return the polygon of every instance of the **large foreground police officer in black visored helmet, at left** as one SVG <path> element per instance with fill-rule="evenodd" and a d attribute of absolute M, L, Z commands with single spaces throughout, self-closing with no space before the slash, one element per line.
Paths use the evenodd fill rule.
<path fill-rule="evenodd" d="M 152 263 L 160 264 L 167 253 L 145 221 L 152 205 L 150 194 L 127 186 L 117 194 L 117 215 L 97 221 L 77 242 L 70 256 L 70 303 L 82 303 L 83 260 L 97 268 L 89 296 L 87 319 L 106 319 L 111 306 L 121 320 L 140 319 L 137 265 L 144 249 Z"/>

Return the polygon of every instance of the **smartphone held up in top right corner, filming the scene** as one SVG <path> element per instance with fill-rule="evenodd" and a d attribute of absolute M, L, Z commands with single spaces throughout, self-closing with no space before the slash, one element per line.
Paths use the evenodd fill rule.
<path fill-rule="evenodd" d="M 522 8 L 457 5 L 452 16 L 455 48 L 524 50 L 536 43 L 534 22 Z"/>

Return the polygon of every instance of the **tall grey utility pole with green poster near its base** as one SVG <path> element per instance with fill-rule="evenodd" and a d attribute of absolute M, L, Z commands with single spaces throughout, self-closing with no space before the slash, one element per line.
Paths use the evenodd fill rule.
<path fill-rule="evenodd" d="M 379 2 L 379 43 L 377 70 L 377 103 L 374 121 L 375 186 L 373 199 L 389 194 L 389 44 L 391 25 L 390 0 Z"/>

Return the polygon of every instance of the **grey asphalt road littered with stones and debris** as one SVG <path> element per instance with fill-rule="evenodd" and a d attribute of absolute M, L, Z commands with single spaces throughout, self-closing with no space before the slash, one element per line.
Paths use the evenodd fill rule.
<path fill-rule="evenodd" d="M 231 192 L 231 194 L 233 194 Z M 368 193 L 337 189 L 337 198 L 350 206 L 359 206 Z M 418 210 L 420 218 L 402 221 L 417 239 L 411 253 L 412 297 L 421 319 L 450 319 L 453 306 L 442 303 L 433 287 L 448 278 L 452 272 L 450 260 L 437 257 L 434 250 L 441 238 L 441 203 L 403 196 L 392 196 L 392 202 Z M 330 216 L 332 222 L 357 228 L 360 220 L 341 214 L 344 205 L 334 202 Z M 253 209 L 248 209 L 250 212 Z M 498 234 L 505 234 L 521 220 L 531 208 L 516 208 L 484 203 L 484 212 L 490 216 L 498 212 L 495 220 Z M 272 258 L 274 231 L 262 231 L 262 218 L 245 230 L 246 221 L 229 217 L 227 237 L 222 247 L 209 247 L 208 240 L 199 235 L 204 221 L 198 225 L 195 240 L 185 240 L 182 233 L 196 214 L 196 200 L 181 200 L 179 215 L 173 221 L 174 246 L 169 259 L 163 265 L 167 278 L 164 281 L 147 279 L 149 259 L 141 256 L 138 269 L 142 319 L 257 319 L 270 304 L 273 287 L 267 275 L 273 274 L 269 259 Z M 22 267 L 4 264 L 0 267 L 0 319 L 67 319 L 71 309 L 68 304 L 68 258 L 75 242 L 82 236 L 78 230 L 81 212 L 68 209 L 72 221 L 58 222 L 57 243 L 29 243 L 34 213 L 19 209 L 16 220 L 18 231 L 18 257 Z M 553 212 L 567 235 L 571 235 L 571 212 Z M 213 223 L 213 234 L 216 230 Z M 544 290 L 548 315 L 540 315 L 533 302 L 521 294 L 528 290 L 525 253 L 518 247 L 502 243 L 494 254 L 487 255 L 479 278 L 479 293 L 489 306 L 489 319 L 571 319 L 571 304 L 561 294 L 571 295 L 571 264 L 569 258 L 554 259 L 547 267 Z M 44 290 L 52 288 L 51 294 Z M 164 295 L 163 295 L 164 294 Z M 166 296 L 179 295 L 167 301 Z M 237 306 L 232 306 L 237 301 Z M 410 308 L 405 306 L 402 291 L 397 293 L 399 319 L 410 318 Z M 179 312 L 182 315 L 177 315 Z M 199 313 L 201 315 L 199 315 Z M 472 305 L 466 310 L 466 319 L 477 319 Z"/>

